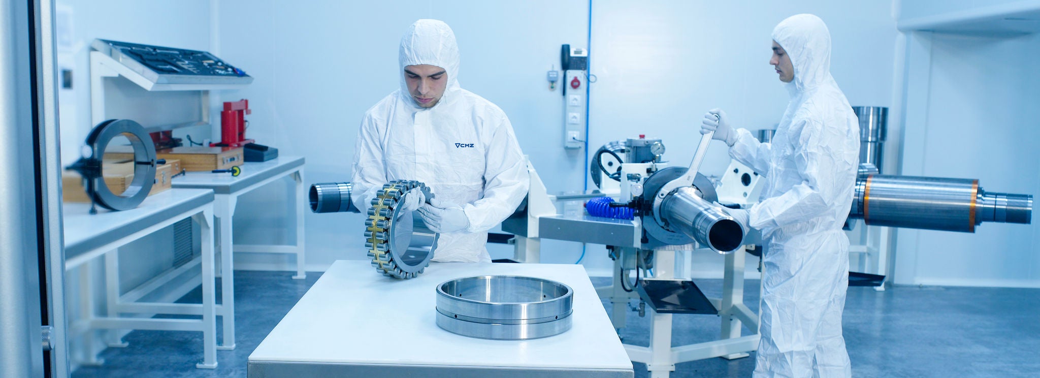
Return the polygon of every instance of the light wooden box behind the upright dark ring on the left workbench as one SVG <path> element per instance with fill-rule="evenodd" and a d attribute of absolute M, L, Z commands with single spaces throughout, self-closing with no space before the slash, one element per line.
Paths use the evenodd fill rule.
<path fill-rule="evenodd" d="M 171 187 L 171 179 L 177 174 L 174 171 L 175 166 L 180 166 L 180 161 L 166 160 L 166 163 L 155 168 L 155 182 L 152 184 L 152 191 L 148 193 L 149 196 Z M 102 176 L 112 193 L 122 194 L 133 182 L 133 161 L 106 160 Z M 83 179 L 78 172 L 61 172 L 61 200 L 66 202 L 90 202 L 90 198 L 86 197 L 86 191 L 83 188 Z"/>

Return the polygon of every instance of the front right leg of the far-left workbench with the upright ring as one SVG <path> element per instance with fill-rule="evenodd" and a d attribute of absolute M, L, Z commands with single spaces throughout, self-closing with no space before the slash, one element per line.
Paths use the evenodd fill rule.
<path fill-rule="evenodd" d="M 203 361 L 199 369 L 216 369 L 216 303 L 213 296 L 213 212 L 191 216 L 202 231 L 202 323 Z M 229 266 L 230 268 L 230 266 Z"/>

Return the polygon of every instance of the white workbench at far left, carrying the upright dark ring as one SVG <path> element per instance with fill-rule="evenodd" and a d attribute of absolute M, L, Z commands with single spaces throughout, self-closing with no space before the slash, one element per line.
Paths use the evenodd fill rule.
<path fill-rule="evenodd" d="M 216 305 L 213 298 L 213 192 L 206 190 L 170 190 L 149 196 L 136 208 L 110 211 L 98 208 L 98 213 L 88 213 L 88 203 L 62 203 L 64 229 L 66 271 L 95 263 L 98 257 L 105 258 L 106 313 L 94 313 L 93 280 L 89 274 L 80 275 L 80 308 L 82 316 L 71 330 L 90 329 L 151 329 L 203 332 L 203 362 L 198 368 L 216 368 Z M 192 219 L 202 229 L 202 256 L 192 262 L 177 268 L 175 274 L 187 272 L 202 264 L 202 303 L 144 303 L 136 302 L 148 288 L 135 289 L 140 295 L 119 293 L 119 248 L 152 232 L 158 231 L 183 219 Z M 87 272 L 90 270 L 87 269 Z M 166 275 L 171 276 L 171 275 Z M 161 284 L 162 280 L 150 281 L 148 286 Z M 168 282 L 166 280 L 165 282 Z M 152 287 L 154 288 L 154 287 Z M 133 297 L 129 298 L 128 297 Z M 173 313 L 199 314 L 198 319 L 144 319 L 120 318 L 119 313 Z M 87 332 L 90 334 L 93 332 Z M 110 334 L 114 334 L 110 332 Z M 118 337 L 108 341 L 109 346 L 126 346 Z M 87 343 L 84 363 L 97 364 L 103 361 L 93 350 L 94 343 Z"/>

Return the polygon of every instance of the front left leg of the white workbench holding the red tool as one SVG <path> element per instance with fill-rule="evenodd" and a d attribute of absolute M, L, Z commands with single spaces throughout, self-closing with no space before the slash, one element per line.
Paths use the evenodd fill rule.
<path fill-rule="evenodd" d="M 232 219 L 238 203 L 236 195 L 216 195 L 214 211 L 219 220 L 217 244 L 220 246 L 220 311 L 224 338 L 216 347 L 219 350 L 235 349 L 235 253 Z"/>

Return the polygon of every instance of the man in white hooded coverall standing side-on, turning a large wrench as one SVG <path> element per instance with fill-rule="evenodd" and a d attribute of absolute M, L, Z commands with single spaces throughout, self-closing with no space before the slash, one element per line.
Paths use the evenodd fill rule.
<path fill-rule="evenodd" d="M 755 377 L 852 375 L 841 310 L 849 286 L 849 238 L 859 163 L 859 122 L 830 73 L 831 35 L 823 20 L 792 16 L 773 29 L 773 58 L 790 93 L 772 143 L 733 129 L 726 114 L 704 116 L 702 133 L 765 176 L 760 202 L 730 210 L 761 229 L 761 341 Z M 717 117 L 718 116 L 718 117 Z"/>

